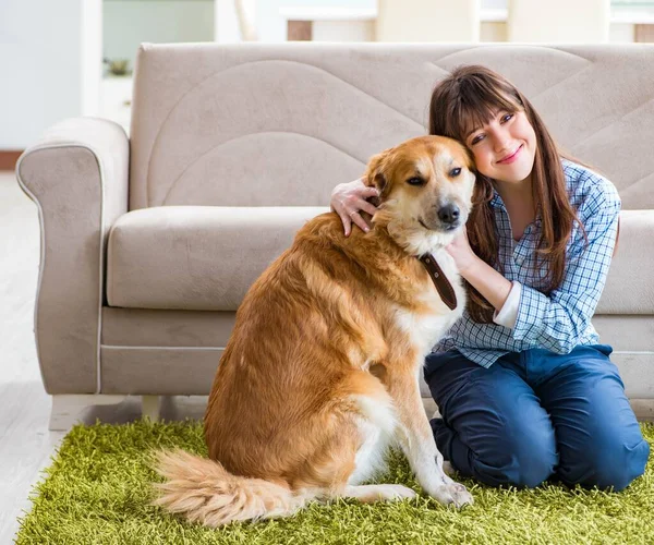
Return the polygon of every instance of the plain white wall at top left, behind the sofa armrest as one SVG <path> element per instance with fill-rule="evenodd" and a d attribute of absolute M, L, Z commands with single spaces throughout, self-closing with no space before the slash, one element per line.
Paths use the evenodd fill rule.
<path fill-rule="evenodd" d="M 89 73 L 83 44 L 99 50 L 99 1 L 0 0 L 0 149 L 24 149 L 52 123 L 95 113 L 99 71 Z"/>

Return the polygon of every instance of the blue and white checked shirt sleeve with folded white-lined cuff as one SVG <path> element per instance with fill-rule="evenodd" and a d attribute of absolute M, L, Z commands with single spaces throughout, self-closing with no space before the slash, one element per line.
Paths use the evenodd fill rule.
<path fill-rule="evenodd" d="M 513 339 L 567 354 L 586 330 L 600 295 L 615 246 L 620 197 L 615 186 L 596 174 L 589 195 L 577 214 L 584 226 L 574 229 L 568 245 L 564 281 L 549 296 L 522 286 Z"/>

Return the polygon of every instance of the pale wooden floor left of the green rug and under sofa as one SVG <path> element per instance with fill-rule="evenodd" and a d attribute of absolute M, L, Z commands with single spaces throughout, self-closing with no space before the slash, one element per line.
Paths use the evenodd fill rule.
<path fill-rule="evenodd" d="M 48 431 L 50 398 L 36 359 L 33 316 L 38 254 L 36 206 L 13 172 L 0 172 L 0 544 L 12 542 L 17 517 L 29 508 L 29 491 L 65 435 Z M 203 397 L 165 399 L 161 416 L 199 419 L 205 407 Z M 639 417 L 654 417 L 654 403 L 634 401 L 633 407 Z M 140 400 L 128 398 L 119 405 L 87 410 L 83 421 L 126 422 L 140 415 Z"/>

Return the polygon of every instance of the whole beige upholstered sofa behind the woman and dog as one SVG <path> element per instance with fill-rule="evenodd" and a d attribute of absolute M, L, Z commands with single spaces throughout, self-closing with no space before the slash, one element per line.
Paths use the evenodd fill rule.
<path fill-rule="evenodd" d="M 654 47 L 144 45 L 129 140 L 71 119 L 17 165 L 40 217 L 51 427 L 125 395 L 150 416 L 159 396 L 207 395 L 249 286 L 337 183 L 425 132 L 434 83 L 465 63 L 506 74 L 619 189 L 594 323 L 628 395 L 654 398 Z"/>

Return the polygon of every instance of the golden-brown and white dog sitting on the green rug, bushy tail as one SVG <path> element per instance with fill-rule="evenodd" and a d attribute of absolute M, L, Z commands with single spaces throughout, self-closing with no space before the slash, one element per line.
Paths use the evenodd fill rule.
<path fill-rule="evenodd" d="M 419 389 L 425 355 L 465 304 L 445 246 L 470 213 L 471 167 L 456 141 L 412 138 L 367 166 L 380 192 L 370 232 L 346 238 L 335 213 L 298 232 L 237 313 L 205 416 L 210 459 L 160 452 L 155 504 L 219 526 L 312 499 L 411 498 L 402 485 L 361 484 L 393 441 L 426 494 L 472 502 L 443 471 Z M 455 310 L 417 258 L 428 254 Z"/>

